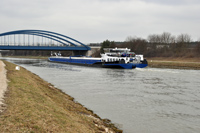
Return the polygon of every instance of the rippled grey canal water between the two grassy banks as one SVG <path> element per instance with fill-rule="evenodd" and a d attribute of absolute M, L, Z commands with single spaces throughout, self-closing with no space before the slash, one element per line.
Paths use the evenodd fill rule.
<path fill-rule="evenodd" d="M 124 70 L 7 60 L 52 83 L 125 133 L 200 132 L 199 70 Z"/>

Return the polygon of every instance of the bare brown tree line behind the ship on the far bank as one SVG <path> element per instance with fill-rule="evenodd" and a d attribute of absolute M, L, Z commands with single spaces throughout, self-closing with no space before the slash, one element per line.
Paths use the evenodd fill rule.
<path fill-rule="evenodd" d="M 136 54 L 146 57 L 200 57 L 200 42 L 192 42 L 188 34 L 180 34 L 177 37 L 168 32 L 162 34 L 151 34 L 147 39 L 140 37 L 127 37 L 121 44 L 114 41 L 103 41 L 103 48 L 130 48 Z"/>

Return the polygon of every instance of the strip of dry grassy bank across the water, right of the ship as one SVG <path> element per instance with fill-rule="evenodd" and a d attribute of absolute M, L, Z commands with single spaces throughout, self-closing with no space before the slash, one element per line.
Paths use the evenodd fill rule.
<path fill-rule="evenodd" d="M 200 58 L 147 58 L 149 67 L 200 70 Z"/>

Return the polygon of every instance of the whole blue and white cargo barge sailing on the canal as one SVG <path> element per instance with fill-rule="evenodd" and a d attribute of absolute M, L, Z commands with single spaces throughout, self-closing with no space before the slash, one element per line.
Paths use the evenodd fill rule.
<path fill-rule="evenodd" d="M 143 55 L 136 55 L 134 52 L 130 52 L 127 48 L 115 48 L 106 49 L 107 52 L 101 54 L 101 58 L 92 58 L 87 56 L 70 56 L 63 57 L 60 54 L 51 56 L 48 58 L 51 62 L 60 62 L 76 65 L 86 65 L 95 67 L 106 68 L 144 68 L 148 66 L 146 59 Z"/>

